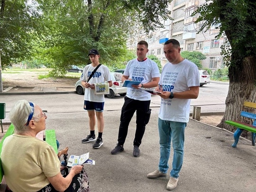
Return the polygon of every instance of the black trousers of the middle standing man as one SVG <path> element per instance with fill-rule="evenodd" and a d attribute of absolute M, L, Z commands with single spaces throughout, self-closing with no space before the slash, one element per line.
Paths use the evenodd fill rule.
<path fill-rule="evenodd" d="M 120 126 L 118 134 L 119 145 L 124 145 L 125 139 L 128 133 L 129 123 L 136 111 L 136 133 L 133 141 L 134 146 L 140 146 L 142 137 L 145 133 L 146 124 L 150 118 L 150 100 L 149 101 L 138 101 L 130 99 L 128 97 L 124 98 L 125 102 L 122 107 Z"/>

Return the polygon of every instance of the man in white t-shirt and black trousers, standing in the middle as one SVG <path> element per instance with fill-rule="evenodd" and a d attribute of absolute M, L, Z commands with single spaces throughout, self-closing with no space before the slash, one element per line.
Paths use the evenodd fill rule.
<path fill-rule="evenodd" d="M 139 85 L 132 85 L 127 89 L 127 95 L 122 107 L 118 144 L 111 151 L 115 155 L 124 150 L 124 143 L 128 133 L 128 126 L 132 116 L 136 111 L 136 133 L 133 141 L 133 156 L 140 155 L 139 146 L 145 132 L 146 124 L 150 118 L 151 109 L 149 109 L 151 94 L 139 88 L 153 88 L 159 82 L 159 69 L 157 64 L 146 57 L 148 52 L 146 41 L 139 41 L 137 44 L 137 59 L 130 60 L 126 65 L 122 82 L 126 80 L 139 81 Z"/>

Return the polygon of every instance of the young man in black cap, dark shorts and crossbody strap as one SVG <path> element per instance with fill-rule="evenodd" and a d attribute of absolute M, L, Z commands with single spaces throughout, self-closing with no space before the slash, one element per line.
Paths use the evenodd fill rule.
<path fill-rule="evenodd" d="M 90 135 L 86 138 L 82 139 L 82 143 L 88 143 L 91 141 L 95 141 L 92 145 L 93 148 L 100 148 L 103 145 L 102 140 L 102 132 L 104 129 L 104 118 L 103 118 L 103 108 L 104 108 L 104 94 L 96 95 L 94 93 L 94 83 L 99 82 L 108 82 L 109 86 L 112 86 L 112 80 L 110 77 L 110 70 L 107 66 L 101 64 L 97 71 L 92 75 L 91 79 L 89 79 L 91 73 L 94 69 L 100 64 L 99 58 L 100 54 L 97 49 L 91 49 L 89 51 L 89 57 L 91 60 L 91 64 L 88 64 L 84 67 L 82 75 L 80 79 L 82 80 L 82 86 L 85 87 L 84 90 L 84 110 L 87 110 L 89 116 L 89 127 L 90 127 Z M 89 81 L 88 81 L 89 79 Z M 98 137 L 95 137 L 95 124 L 96 118 L 98 122 Z"/>

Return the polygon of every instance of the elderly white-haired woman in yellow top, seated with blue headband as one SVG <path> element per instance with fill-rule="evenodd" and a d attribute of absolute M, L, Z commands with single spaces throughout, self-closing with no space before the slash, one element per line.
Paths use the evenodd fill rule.
<path fill-rule="evenodd" d="M 53 147 L 36 137 L 47 119 L 38 105 L 18 101 L 9 117 L 15 133 L 4 140 L 1 163 L 12 192 L 90 192 L 83 166 L 73 166 L 63 177 Z"/>

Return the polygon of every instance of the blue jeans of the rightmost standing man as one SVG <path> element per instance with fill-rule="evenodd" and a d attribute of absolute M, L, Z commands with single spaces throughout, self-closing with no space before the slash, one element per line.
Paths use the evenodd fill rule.
<path fill-rule="evenodd" d="M 158 118 L 160 160 L 159 171 L 167 173 L 168 160 L 171 152 L 171 141 L 173 139 L 174 158 L 171 177 L 178 178 L 183 164 L 184 154 L 184 131 L 187 123 L 162 120 Z"/>

